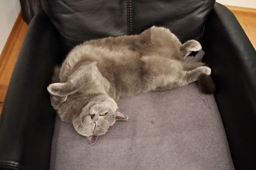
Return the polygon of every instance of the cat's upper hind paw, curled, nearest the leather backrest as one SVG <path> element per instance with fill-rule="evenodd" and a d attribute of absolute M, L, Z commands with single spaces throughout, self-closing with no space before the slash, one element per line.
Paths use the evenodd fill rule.
<path fill-rule="evenodd" d="M 202 46 L 194 39 L 186 41 L 180 46 L 180 52 L 183 53 L 184 57 L 188 56 L 191 52 L 198 52 L 199 50 L 202 50 Z"/>

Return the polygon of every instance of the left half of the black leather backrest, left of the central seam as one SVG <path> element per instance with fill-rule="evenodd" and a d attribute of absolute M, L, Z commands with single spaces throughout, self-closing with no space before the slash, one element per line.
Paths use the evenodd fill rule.
<path fill-rule="evenodd" d="M 43 0 L 66 51 L 89 39 L 127 34 L 126 1 Z"/>

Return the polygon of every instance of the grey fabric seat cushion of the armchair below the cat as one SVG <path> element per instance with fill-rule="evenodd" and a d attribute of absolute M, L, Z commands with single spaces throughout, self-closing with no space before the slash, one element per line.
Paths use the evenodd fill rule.
<path fill-rule="evenodd" d="M 119 102 L 129 116 L 89 145 L 56 118 L 51 169 L 234 169 L 213 96 L 195 83 Z"/>

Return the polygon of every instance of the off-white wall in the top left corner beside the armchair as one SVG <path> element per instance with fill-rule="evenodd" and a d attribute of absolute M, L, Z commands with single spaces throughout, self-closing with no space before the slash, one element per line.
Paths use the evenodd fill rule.
<path fill-rule="evenodd" d="M 0 53 L 20 11 L 19 0 L 0 0 Z"/>

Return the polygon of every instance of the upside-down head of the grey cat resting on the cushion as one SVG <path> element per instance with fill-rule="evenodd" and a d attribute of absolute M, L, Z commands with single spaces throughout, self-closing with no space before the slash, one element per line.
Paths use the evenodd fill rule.
<path fill-rule="evenodd" d="M 127 120 L 127 115 L 118 111 L 116 102 L 108 95 L 93 97 L 81 113 L 73 117 L 74 129 L 86 136 L 90 144 L 94 144 L 97 137 L 106 134 L 109 127 L 116 120 Z"/>

